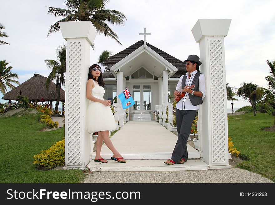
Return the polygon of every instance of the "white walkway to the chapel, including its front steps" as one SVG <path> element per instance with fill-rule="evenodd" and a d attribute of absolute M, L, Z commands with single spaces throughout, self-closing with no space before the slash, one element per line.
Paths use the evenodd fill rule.
<path fill-rule="evenodd" d="M 93 171 L 169 171 L 202 170 L 207 164 L 200 159 L 200 153 L 187 144 L 188 160 L 184 164 L 167 165 L 164 161 L 171 158 L 178 137 L 156 121 L 129 121 L 111 140 L 127 163 L 111 160 L 113 153 L 105 144 L 101 156 L 108 163 L 91 160 L 88 164 Z M 92 159 L 94 159 L 95 152 Z M 150 160 L 148 160 L 150 159 Z"/>

